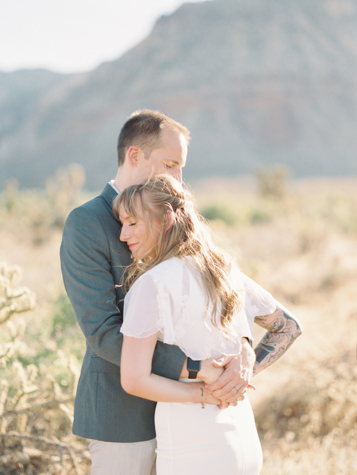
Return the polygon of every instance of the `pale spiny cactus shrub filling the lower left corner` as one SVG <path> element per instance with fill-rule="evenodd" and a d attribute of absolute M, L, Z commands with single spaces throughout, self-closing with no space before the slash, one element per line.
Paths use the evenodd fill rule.
<path fill-rule="evenodd" d="M 0 287 L 0 301 L 8 302 L 3 310 L 9 310 L 4 319 L 7 323 L 1 326 L 0 343 L 0 472 L 83 473 L 86 452 L 80 439 L 71 435 L 80 372 L 80 362 L 73 353 L 80 351 L 71 347 L 70 339 L 74 340 L 79 330 L 69 313 L 66 343 L 46 335 L 46 328 L 56 329 L 59 322 L 66 322 L 68 302 L 60 296 L 54 317 L 42 333 L 29 332 L 17 313 L 31 310 L 34 296 L 19 287 L 18 268 L 2 265 L 2 269 L 6 284 Z M 14 301 L 14 295 L 21 304 Z M 27 304 L 24 295 L 28 296 Z M 10 320 L 11 316 L 16 316 L 15 321 Z M 77 451 L 81 460 L 75 455 Z"/>

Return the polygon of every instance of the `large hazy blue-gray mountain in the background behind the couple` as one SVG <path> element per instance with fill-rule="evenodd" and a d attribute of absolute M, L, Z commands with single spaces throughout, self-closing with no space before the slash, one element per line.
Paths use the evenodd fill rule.
<path fill-rule="evenodd" d="M 357 0 L 211 0 L 159 18 L 92 72 L 0 73 L 0 185 L 40 186 L 77 162 L 99 189 L 138 108 L 190 129 L 187 179 L 275 163 L 357 175 L 356 26 Z"/>

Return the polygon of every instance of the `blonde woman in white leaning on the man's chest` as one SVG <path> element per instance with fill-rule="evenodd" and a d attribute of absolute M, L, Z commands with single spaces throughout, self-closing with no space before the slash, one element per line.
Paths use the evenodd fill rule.
<path fill-rule="evenodd" d="M 172 177 L 126 188 L 113 209 L 122 223 L 120 240 L 134 257 L 124 282 L 130 290 L 121 327 L 121 384 L 130 394 L 159 401 L 158 475 L 258 475 L 262 452 L 248 398 L 220 410 L 221 401 L 200 379 L 158 376 L 151 360 L 158 338 L 195 361 L 239 354 L 254 318 L 267 327 L 277 302 L 214 245 L 189 193 Z M 296 331 L 283 352 L 299 334 L 297 321 L 288 318 Z"/>

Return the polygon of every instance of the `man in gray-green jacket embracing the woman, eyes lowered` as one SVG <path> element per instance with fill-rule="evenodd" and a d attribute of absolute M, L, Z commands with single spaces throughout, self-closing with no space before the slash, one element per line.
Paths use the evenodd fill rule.
<path fill-rule="evenodd" d="M 164 114 L 150 110 L 133 113 L 119 135 L 115 180 L 100 196 L 74 209 L 65 224 L 63 280 L 87 341 L 73 433 L 92 439 L 92 475 L 156 473 L 156 403 L 126 394 L 120 386 L 124 298 L 120 284 L 131 254 L 119 240 L 121 225 L 111 205 L 119 190 L 151 175 L 166 172 L 182 181 L 188 143 L 186 127 Z M 239 400 L 254 363 L 248 340 L 244 339 L 239 357 L 220 363 L 226 369 L 215 389 L 222 398 Z M 202 362 L 200 371 L 212 366 L 210 361 Z M 152 371 L 179 379 L 181 372 L 187 371 L 186 356 L 178 347 L 158 342 Z"/>

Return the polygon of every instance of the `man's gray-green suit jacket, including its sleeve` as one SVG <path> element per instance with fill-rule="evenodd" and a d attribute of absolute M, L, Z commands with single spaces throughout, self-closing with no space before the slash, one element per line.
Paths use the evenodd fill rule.
<path fill-rule="evenodd" d="M 131 254 L 119 240 L 120 223 L 111 207 L 115 196 L 107 184 L 100 196 L 70 213 L 63 231 L 63 280 L 87 341 L 73 433 L 106 442 L 139 442 L 155 437 L 156 402 L 131 396 L 120 385 L 124 296 L 115 286 Z M 179 379 L 184 360 L 178 347 L 158 342 L 152 371 Z"/>

